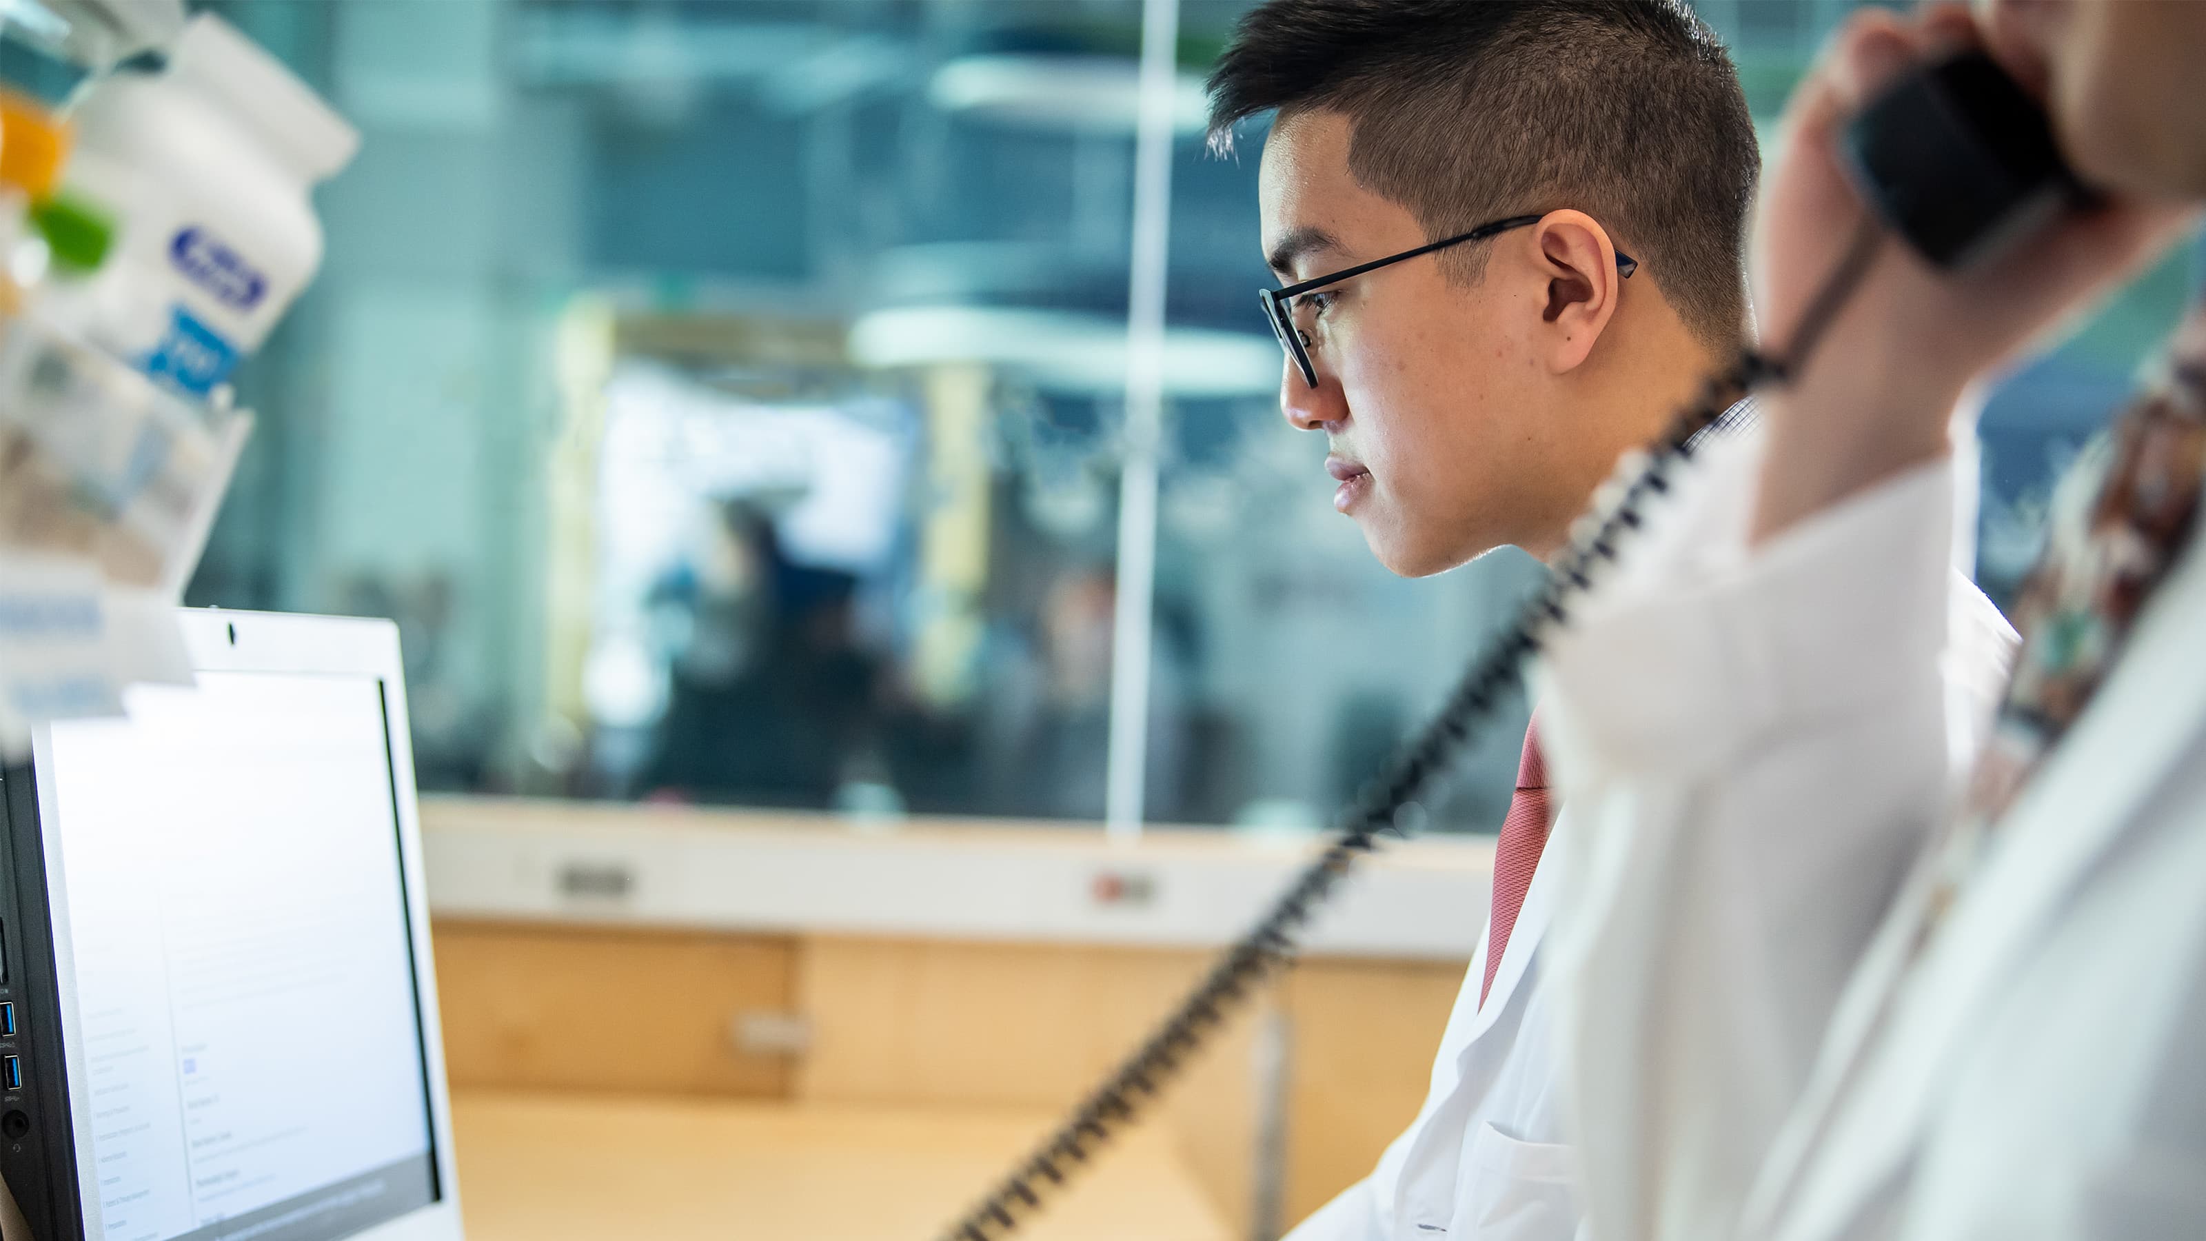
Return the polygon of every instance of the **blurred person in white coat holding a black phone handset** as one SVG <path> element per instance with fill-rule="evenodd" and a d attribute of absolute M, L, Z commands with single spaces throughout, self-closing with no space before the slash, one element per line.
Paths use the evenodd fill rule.
<path fill-rule="evenodd" d="M 2206 4 L 1855 18 L 1793 97 L 1758 305 L 1785 342 L 1864 221 L 1846 119 L 1966 44 L 2096 205 L 1963 274 L 1886 238 L 1544 665 L 1604 1241 L 2206 1237 L 2206 309 L 2065 479 L 1996 713 L 1941 693 L 1970 391 L 2195 221 Z"/>

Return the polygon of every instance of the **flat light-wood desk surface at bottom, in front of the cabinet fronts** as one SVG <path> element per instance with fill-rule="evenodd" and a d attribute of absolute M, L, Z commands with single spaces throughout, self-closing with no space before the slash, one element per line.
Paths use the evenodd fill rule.
<path fill-rule="evenodd" d="M 468 1241 L 935 1241 L 1052 1117 L 629 1095 L 452 1097 Z M 1158 1128 L 1114 1144 L 1035 1241 L 1227 1241 Z"/>

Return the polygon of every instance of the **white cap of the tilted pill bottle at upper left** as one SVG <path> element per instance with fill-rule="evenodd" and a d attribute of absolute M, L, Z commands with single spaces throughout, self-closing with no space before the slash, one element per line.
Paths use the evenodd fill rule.
<path fill-rule="evenodd" d="M 360 150 L 360 130 L 214 13 L 201 13 L 183 29 L 168 53 L 168 75 L 227 104 L 309 181 L 335 177 Z"/>

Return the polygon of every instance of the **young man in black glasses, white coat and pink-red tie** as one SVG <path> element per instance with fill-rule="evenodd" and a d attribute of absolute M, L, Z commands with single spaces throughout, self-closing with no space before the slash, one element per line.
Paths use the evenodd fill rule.
<path fill-rule="evenodd" d="M 1747 342 L 1760 155 L 1677 0 L 1268 0 L 1211 77 L 1213 146 L 1260 113 L 1279 404 L 1326 435 L 1335 508 L 1399 574 L 1560 552 L 1617 457 Z M 1425 1106 L 1291 1241 L 1577 1234 L 1540 987 L 1546 797 L 1527 733 Z"/>

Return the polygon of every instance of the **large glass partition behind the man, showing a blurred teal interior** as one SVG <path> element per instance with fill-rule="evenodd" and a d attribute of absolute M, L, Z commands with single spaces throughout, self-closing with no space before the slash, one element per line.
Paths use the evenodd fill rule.
<path fill-rule="evenodd" d="M 1125 495 L 1141 0 L 227 0 L 362 128 L 192 603 L 399 620 L 441 791 L 1094 826 L 1127 565 L 1152 824 L 1324 824 L 1538 581 L 1379 568 L 1277 415 L 1244 0 L 1169 40 L 1154 545 Z M 1774 135 L 1851 9 L 1705 0 Z M 1154 276 L 1154 274 L 1152 274 Z M 1994 397 L 1981 574 L 2191 291 Z M 1136 523 L 1138 526 L 1138 523 Z M 1529 707 L 1425 806 L 1493 830 Z"/>

